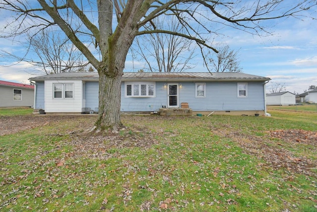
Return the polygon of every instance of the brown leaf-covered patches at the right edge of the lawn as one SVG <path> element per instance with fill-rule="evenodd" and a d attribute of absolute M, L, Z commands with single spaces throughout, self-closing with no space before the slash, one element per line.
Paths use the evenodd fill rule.
<path fill-rule="evenodd" d="M 267 161 L 267 166 L 273 169 L 286 168 L 288 171 L 317 177 L 316 172 L 311 168 L 316 168 L 316 160 L 305 156 L 294 156 L 294 153 L 284 146 L 290 145 L 296 148 L 297 145 L 310 145 L 312 152 L 316 152 L 317 133 L 307 130 L 274 130 L 266 132 L 270 138 L 277 138 L 285 142 L 281 144 L 269 137 L 246 135 L 236 131 L 217 128 L 212 131 L 214 134 L 224 138 L 230 138 L 237 142 L 248 154 L 257 156 L 259 159 Z M 301 141 L 301 142 L 299 142 Z M 281 148 L 274 147 L 275 145 Z M 216 174 L 217 172 L 214 172 Z"/>

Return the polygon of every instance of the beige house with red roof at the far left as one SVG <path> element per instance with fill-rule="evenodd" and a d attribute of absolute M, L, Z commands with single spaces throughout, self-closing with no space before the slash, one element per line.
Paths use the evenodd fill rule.
<path fill-rule="evenodd" d="M 0 107 L 31 107 L 34 86 L 0 80 Z"/>

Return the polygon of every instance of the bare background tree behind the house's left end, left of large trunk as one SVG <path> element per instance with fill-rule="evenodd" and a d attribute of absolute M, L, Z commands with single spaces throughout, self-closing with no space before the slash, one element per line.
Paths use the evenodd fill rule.
<path fill-rule="evenodd" d="M 28 62 L 44 74 L 86 70 L 89 62 L 63 34 L 43 29 L 36 35 L 27 33 L 26 36 L 24 45 L 28 51 L 24 56 L 1 51 L 2 56 Z"/>

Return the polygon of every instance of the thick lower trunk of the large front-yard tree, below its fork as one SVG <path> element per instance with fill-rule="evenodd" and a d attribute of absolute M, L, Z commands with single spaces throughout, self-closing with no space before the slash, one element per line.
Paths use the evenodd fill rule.
<path fill-rule="evenodd" d="M 120 120 L 122 71 L 116 75 L 99 72 L 99 115 L 95 123 L 97 132 L 111 130 L 117 133 L 123 127 Z"/>

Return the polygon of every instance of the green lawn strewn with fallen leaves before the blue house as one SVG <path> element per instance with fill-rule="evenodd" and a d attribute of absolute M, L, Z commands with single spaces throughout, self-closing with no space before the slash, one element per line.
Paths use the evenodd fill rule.
<path fill-rule="evenodd" d="M 268 112 L 272 117 L 123 115 L 128 129 L 116 141 L 69 134 L 92 125 L 93 116 L 1 136 L 0 211 L 316 212 L 316 145 L 268 133 L 317 132 L 316 113 Z M 257 153 L 263 148 L 315 167 L 304 174 L 272 165 Z"/>

